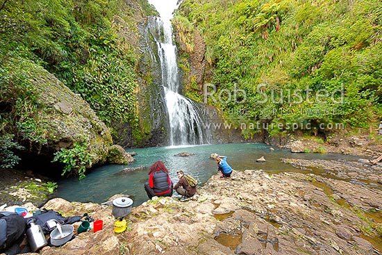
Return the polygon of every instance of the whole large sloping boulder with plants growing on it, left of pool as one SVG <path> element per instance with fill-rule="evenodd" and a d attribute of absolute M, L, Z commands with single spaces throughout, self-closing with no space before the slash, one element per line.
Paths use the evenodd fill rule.
<path fill-rule="evenodd" d="M 90 155 L 86 167 L 106 162 L 113 145 L 110 130 L 80 95 L 32 61 L 9 58 L 4 66 L 12 75 L 5 77 L 0 99 L 18 110 L 8 116 L 15 128 L 6 132 L 17 133 L 28 146 L 22 154 L 28 164 L 37 165 L 42 158 L 50 163 L 56 151 L 74 147 Z"/>

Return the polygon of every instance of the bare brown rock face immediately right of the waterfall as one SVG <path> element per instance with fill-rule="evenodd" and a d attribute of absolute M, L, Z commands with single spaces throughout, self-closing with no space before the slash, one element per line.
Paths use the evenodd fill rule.
<path fill-rule="evenodd" d="M 183 93 L 192 97 L 199 97 L 204 93 L 204 85 L 210 83 L 212 79 L 212 63 L 206 60 L 206 44 L 204 37 L 196 27 L 185 27 L 174 22 L 175 39 L 178 44 L 178 65 L 181 67 L 183 77 Z M 200 101 L 200 99 L 197 99 Z M 251 138 L 243 138 L 240 126 L 226 128 L 222 111 L 208 104 L 198 102 L 203 109 L 206 124 L 210 124 L 210 139 L 212 144 L 229 142 L 263 142 L 264 132 L 256 133 Z M 231 120 L 228 120 L 230 122 Z"/>

